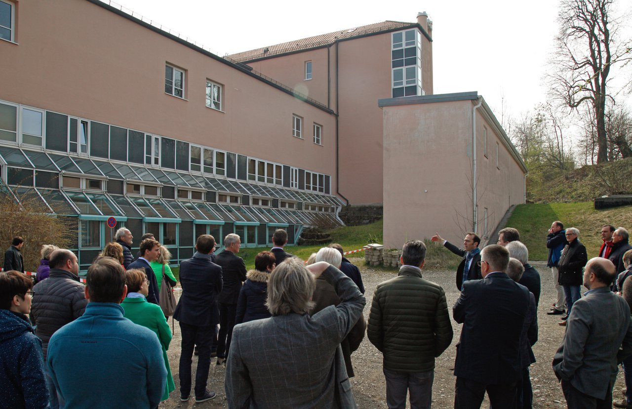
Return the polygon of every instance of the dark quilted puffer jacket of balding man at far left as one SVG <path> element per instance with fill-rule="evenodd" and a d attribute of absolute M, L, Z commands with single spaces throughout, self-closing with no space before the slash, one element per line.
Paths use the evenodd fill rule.
<path fill-rule="evenodd" d="M 35 284 L 31 314 L 35 320 L 35 334 L 42 340 L 44 362 L 48 341 L 59 328 L 81 317 L 88 300 L 83 284 L 70 271 L 51 269 L 51 275 Z"/>

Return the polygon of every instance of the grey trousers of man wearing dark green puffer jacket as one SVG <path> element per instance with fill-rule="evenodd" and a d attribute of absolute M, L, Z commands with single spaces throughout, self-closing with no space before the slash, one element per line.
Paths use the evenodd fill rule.
<path fill-rule="evenodd" d="M 386 377 L 386 405 L 389 409 L 405 409 L 408 391 L 411 409 L 430 409 L 434 370 L 414 374 L 383 370 Z"/>

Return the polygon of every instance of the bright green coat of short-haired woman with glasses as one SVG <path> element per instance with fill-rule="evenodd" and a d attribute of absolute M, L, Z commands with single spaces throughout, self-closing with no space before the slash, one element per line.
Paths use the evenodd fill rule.
<path fill-rule="evenodd" d="M 167 368 L 167 384 L 164 388 L 164 394 L 162 394 L 162 400 L 166 400 L 169 398 L 169 393 L 176 389 L 167 358 L 167 350 L 171 342 L 171 330 L 167 324 L 167 319 L 158 305 L 148 303 L 145 298 L 125 298 L 121 302 L 121 307 L 125 310 L 125 318 L 134 324 L 151 329 L 158 336 L 162 346 L 164 366 Z"/>

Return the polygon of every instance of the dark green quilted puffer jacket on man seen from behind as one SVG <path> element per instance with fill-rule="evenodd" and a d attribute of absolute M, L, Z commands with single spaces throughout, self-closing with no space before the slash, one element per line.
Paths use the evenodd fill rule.
<path fill-rule="evenodd" d="M 391 372 L 427 372 L 452 342 L 446 293 L 403 266 L 399 276 L 377 286 L 368 319 L 369 341 L 384 355 Z"/>

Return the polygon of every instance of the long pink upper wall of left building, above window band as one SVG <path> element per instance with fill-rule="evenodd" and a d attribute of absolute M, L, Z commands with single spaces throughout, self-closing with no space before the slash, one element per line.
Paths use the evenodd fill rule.
<path fill-rule="evenodd" d="M 334 143 L 312 142 L 314 122 L 331 141 L 332 114 L 88 1 L 17 4 L 0 99 L 334 176 Z M 186 71 L 185 99 L 164 92 L 166 63 Z M 223 85 L 223 112 L 205 106 L 207 78 Z"/>

